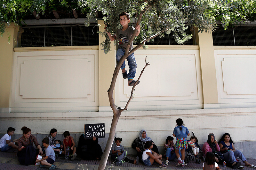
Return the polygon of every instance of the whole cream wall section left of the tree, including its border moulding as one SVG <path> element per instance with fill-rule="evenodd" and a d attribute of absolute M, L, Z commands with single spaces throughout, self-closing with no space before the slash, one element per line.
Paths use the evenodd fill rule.
<path fill-rule="evenodd" d="M 14 53 L 10 112 L 98 111 L 99 51 Z"/>

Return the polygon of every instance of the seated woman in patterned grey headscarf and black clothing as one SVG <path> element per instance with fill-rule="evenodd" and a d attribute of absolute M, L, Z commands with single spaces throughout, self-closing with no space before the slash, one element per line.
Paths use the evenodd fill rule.
<path fill-rule="evenodd" d="M 145 143 L 147 141 L 152 141 L 152 139 L 150 137 L 147 136 L 147 132 L 146 130 L 142 129 L 140 130 L 140 134 L 139 137 L 137 137 L 136 139 L 134 139 L 133 143 L 132 143 L 132 148 L 136 149 L 137 151 L 137 155 L 139 156 L 139 161 L 142 162 L 142 154 L 145 151 Z M 159 154 L 158 148 L 157 146 L 154 144 L 153 142 L 153 148 L 152 151 L 156 152 L 157 154 Z"/>

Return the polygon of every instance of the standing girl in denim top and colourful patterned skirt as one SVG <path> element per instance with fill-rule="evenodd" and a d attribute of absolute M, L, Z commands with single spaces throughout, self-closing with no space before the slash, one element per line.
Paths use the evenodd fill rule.
<path fill-rule="evenodd" d="M 178 164 L 176 166 L 181 165 L 182 167 L 185 166 L 185 149 L 188 149 L 188 143 L 187 143 L 187 135 L 189 136 L 189 131 L 188 128 L 183 126 L 183 121 L 182 119 L 177 119 L 176 120 L 177 126 L 173 130 L 173 136 L 176 137 L 176 144 L 175 144 L 175 153 L 176 156 L 179 160 Z M 179 150 L 181 150 L 181 158 L 180 159 L 180 154 Z"/>

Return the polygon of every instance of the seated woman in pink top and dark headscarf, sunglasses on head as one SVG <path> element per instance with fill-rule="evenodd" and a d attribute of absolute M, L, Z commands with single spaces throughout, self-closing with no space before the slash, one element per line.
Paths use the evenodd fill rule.
<path fill-rule="evenodd" d="M 213 133 L 209 133 L 208 140 L 204 143 L 202 151 L 204 155 L 206 155 L 207 152 L 215 153 L 220 151 L 220 146 Z M 219 162 L 219 159 L 215 157 L 215 161 Z"/>

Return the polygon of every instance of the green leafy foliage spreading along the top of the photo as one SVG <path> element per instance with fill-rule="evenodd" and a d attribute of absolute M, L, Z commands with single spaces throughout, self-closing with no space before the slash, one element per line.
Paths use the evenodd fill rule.
<path fill-rule="evenodd" d="M 176 41 L 183 43 L 191 37 L 184 33 L 185 24 L 205 31 L 212 30 L 217 20 L 227 29 L 235 22 L 256 18 L 255 0 L 1 0 L 0 35 L 5 32 L 6 24 L 14 22 L 19 25 L 22 19 L 35 19 L 33 12 L 41 18 L 53 18 L 53 11 L 63 14 L 63 18 L 74 18 L 73 9 L 83 18 L 95 18 L 96 13 L 101 13 L 107 29 L 114 33 L 116 28 L 120 28 L 118 15 L 121 11 L 129 12 L 136 23 L 138 14 L 147 4 L 150 7 L 141 19 L 142 28 L 140 36 L 135 39 L 137 42 L 157 32 L 161 37 L 164 32 L 173 31 Z M 105 52 L 109 51 L 108 43 L 102 44 Z"/>

